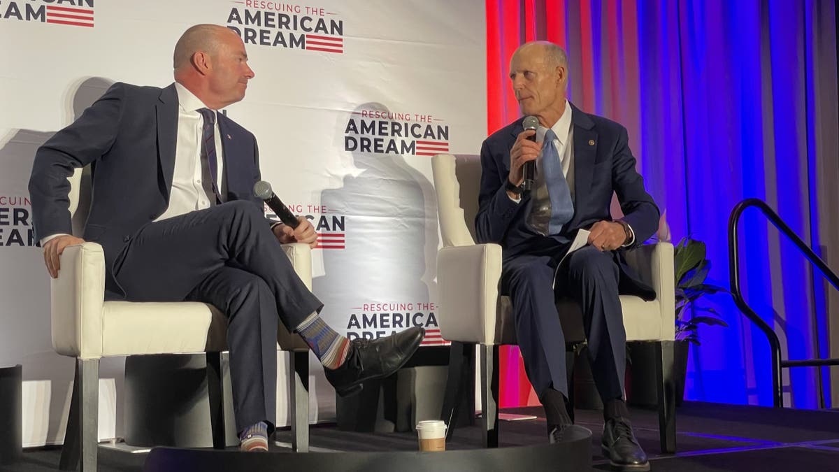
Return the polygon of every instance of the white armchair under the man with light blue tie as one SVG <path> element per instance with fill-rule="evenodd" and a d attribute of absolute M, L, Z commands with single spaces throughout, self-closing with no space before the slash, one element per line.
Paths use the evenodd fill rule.
<path fill-rule="evenodd" d="M 444 247 L 437 254 L 438 321 L 443 338 L 452 341 L 449 385 L 442 417 L 457 417 L 458 402 L 471 392 L 468 385 L 470 350 L 481 347 L 481 398 L 484 440 L 498 446 L 498 345 L 516 344 L 515 325 L 508 296 L 498 296 L 501 246 L 475 244 L 474 221 L 480 185 L 481 161 L 475 155 L 435 155 L 431 160 L 437 211 Z M 648 244 L 628 252 L 628 263 L 655 289 L 655 300 L 621 298 L 628 341 L 656 343 L 659 390 L 659 433 L 663 452 L 675 452 L 675 397 L 673 340 L 675 287 L 673 245 Z M 569 299 L 557 301 L 565 341 L 586 340 L 580 307 Z M 569 363 L 571 366 L 571 363 Z M 569 369 L 569 381 L 572 371 Z M 569 387 L 572 390 L 571 386 Z M 569 399 L 573 402 L 573 398 Z M 467 399 L 468 401 L 468 399 Z M 450 431 L 451 431 L 450 427 Z"/>

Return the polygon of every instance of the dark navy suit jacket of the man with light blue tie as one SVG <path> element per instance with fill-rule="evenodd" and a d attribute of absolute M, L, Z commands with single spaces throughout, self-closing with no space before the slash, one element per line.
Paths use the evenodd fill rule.
<path fill-rule="evenodd" d="M 635 233 L 633 245 L 644 243 L 659 226 L 659 208 L 644 189 L 644 180 L 635 170 L 635 158 L 629 150 L 626 128 L 606 118 L 583 113 L 574 105 L 571 108 L 571 126 L 574 127 L 574 216 L 554 239 L 561 245 L 573 239 L 580 228 L 612 220 L 612 193 L 617 193 L 623 220 Z M 529 197 L 524 197 L 517 204 L 510 200 L 504 188 L 510 172 L 510 149 L 516 137 L 524 131 L 523 121 L 524 118 L 519 118 L 499 129 L 484 140 L 481 148 L 481 192 L 475 221 L 477 238 L 481 243 L 501 244 L 505 260 L 540 250 L 546 240 L 526 223 Z M 622 275 L 621 290 L 654 298 L 652 289 L 638 281 L 633 270 L 625 264 L 623 251 L 615 251 Z"/>

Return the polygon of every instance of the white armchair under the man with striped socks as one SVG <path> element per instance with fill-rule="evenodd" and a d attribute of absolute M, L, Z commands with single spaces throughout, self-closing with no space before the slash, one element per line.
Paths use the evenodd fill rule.
<path fill-rule="evenodd" d="M 90 202 L 89 176 L 86 170 L 76 170 L 69 180 L 73 232 L 81 234 Z M 284 250 L 294 270 L 311 287 L 310 247 L 286 244 Z M 81 459 L 81 470 L 96 470 L 99 359 L 103 357 L 206 353 L 212 441 L 215 448 L 224 448 L 221 351 L 227 349 L 227 320 L 221 312 L 198 302 L 106 302 L 104 253 L 96 243 L 66 248 L 60 263 L 58 278 L 50 286 L 52 342 L 58 354 L 76 358 L 60 469 L 75 469 Z M 291 351 L 293 447 L 307 451 L 309 346 L 282 323 L 277 339 L 279 349 Z"/>

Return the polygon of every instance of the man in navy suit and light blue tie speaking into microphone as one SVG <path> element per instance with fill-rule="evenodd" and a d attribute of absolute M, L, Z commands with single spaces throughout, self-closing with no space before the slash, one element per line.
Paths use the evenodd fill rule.
<path fill-rule="evenodd" d="M 520 118 L 484 141 L 478 239 L 503 246 L 501 288 L 513 302 L 525 370 L 545 406 L 550 442 L 578 428 L 565 410 L 565 338 L 555 308 L 555 296 L 569 296 L 582 308 L 604 404 L 602 448 L 613 465 L 648 470 L 623 399 L 626 333 L 618 293 L 654 298 L 623 252 L 649 239 L 659 209 L 635 170 L 626 129 L 568 102 L 564 50 L 546 42 L 520 46 L 510 79 L 522 114 L 538 118 L 539 127 L 525 131 Z M 522 190 L 526 162 L 535 165 L 532 191 Z M 623 210 L 619 220 L 610 214 L 612 193 Z M 591 231 L 588 244 L 563 260 L 581 228 Z"/>

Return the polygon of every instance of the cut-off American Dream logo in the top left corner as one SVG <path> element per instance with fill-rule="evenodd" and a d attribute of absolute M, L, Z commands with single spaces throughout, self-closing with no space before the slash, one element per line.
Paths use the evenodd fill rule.
<path fill-rule="evenodd" d="M 93 28 L 93 0 L 0 2 L 0 18 Z"/>

